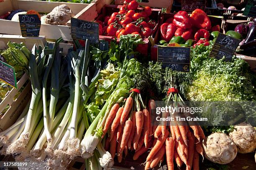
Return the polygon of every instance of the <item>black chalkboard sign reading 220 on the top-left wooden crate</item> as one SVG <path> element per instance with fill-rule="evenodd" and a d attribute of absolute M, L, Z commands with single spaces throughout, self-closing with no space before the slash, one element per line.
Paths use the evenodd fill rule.
<path fill-rule="evenodd" d="M 41 21 L 38 15 L 29 14 L 19 15 L 20 30 L 23 37 L 38 37 L 41 27 Z"/>

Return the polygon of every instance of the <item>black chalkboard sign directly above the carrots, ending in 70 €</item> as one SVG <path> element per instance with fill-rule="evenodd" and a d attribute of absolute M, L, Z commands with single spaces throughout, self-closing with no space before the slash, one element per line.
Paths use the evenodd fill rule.
<path fill-rule="evenodd" d="M 157 61 L 162 62 L 163 67 L 189 72 L 190 47 L 158 47 Z"/>

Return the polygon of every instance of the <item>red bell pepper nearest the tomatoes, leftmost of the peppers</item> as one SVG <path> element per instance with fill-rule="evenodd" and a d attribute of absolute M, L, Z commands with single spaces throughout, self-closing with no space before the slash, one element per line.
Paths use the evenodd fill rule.
<path fill-rule="evenodd" d="M 169 42 L 172 39 L 176 30 L 177 27 L 174 24 L 163 23 L 160 27 L 161 38 L 163 40 L 166 40 L 166 42 Z"/>

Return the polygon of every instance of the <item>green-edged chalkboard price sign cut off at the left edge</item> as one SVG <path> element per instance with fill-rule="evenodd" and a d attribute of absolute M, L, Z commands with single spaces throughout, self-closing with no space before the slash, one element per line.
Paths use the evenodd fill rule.
<path fill-rule="evenodd" d="M 14 68 L 3 61 L 0 61 L 0 80 L 14 88 L 17 88 Z"/>

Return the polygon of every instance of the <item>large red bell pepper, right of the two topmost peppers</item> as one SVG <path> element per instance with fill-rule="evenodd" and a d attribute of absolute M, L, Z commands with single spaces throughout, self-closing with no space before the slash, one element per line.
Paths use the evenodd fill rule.
<path fill-rule="evenodd" d="M 211 30 L 211 21 L 210 18 L 207 16 L 207 14 L 200 9 L 196 9 L 192 12 L 190 16 L 190 20 L 192 22 L 192 25 L 194 25 L 197 28 L 203 28 L 205 30 Z"/>

